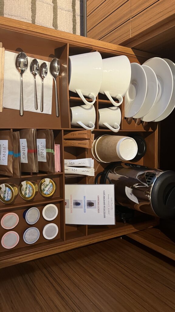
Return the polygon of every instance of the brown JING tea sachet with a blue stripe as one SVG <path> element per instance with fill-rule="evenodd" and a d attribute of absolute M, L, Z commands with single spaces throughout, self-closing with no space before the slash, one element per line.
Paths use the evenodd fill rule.
<path fill-rule="evenodd" d="M 11 130 L 0 131 L 0 174 L 13 176 L 13 137 Z"/>

